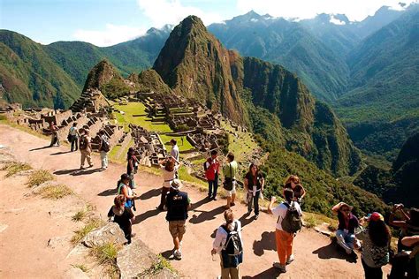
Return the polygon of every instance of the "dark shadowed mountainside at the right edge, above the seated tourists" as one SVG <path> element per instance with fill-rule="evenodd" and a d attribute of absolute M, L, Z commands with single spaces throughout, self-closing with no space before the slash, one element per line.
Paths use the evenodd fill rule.
<path fill-rule="evenodd" d="M 404 203 L 407 207 L 419 204 L 419 132 L 408 138 L 401 147 L 392 170 L 369 166 L 354 180 L 354 185 L 374 192 L 386 202 Z"/>

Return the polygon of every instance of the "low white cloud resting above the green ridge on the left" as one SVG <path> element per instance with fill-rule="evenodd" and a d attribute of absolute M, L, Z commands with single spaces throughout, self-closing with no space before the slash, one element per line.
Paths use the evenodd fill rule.
<path fill-rule="evenodd" d="M 99 47 L 108 47 L 122 41 L 133 40 L 145 34 L 146 31 L 145 28 L 107 24 L 104 30 L 76 30 L 72 37 L 79 41 L 88 41 Z"/>

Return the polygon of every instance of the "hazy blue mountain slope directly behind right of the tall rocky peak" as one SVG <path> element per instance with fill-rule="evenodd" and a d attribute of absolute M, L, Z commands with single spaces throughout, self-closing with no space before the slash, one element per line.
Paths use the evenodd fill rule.
<path fill-rule="evenodd" d="M 347 85 L 345 61 L 297 22 L 260 16 L 255 11 L 212 24 L 209 31 L 229 49 L 297 72 L 323 100 L 334 100 Z"/>

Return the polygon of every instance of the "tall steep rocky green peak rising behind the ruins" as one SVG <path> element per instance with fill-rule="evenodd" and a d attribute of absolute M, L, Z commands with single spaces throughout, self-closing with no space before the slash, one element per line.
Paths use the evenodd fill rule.
<path fill-rule="evenodd" d="M 250 124 L 264 139 L 277 137 L 279 147 L 321 169 L 343 176 L 359 168 L 360 155 L 342 124 L 301 79 L 282 66 L 225 49 L 201 19 L 190 16 L 173 29 L 154 69 L 176 94 Z"/>

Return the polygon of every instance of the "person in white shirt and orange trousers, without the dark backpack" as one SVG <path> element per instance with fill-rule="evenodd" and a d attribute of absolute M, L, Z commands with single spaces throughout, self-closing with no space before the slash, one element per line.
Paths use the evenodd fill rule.
<path fill-rule="evenodd" d="M 268 207 L 268 212 L 278 217 L 275 238 L 277 242 L 279 262 L 275 262 L 273 266 L 274 268 L 278 268 L 281 273 L 286 273 L 286 264 L 290 264 L 293 261 L 293 238 L 295 236 L 294 232 L 284 230 L 282 222 L 286 218 L 286 213 L 290 206 L 295 207 L 298 214 L 302 216 L 300 205 L 293 201 L 293 190 L 285 189 L 284 196 L 286 201 L 275 208 L 272 208 L 272 206 L 277 199 L 272 197 Z"/>

